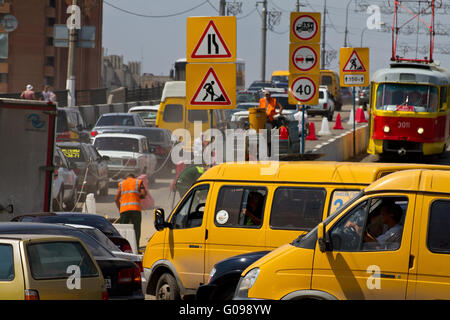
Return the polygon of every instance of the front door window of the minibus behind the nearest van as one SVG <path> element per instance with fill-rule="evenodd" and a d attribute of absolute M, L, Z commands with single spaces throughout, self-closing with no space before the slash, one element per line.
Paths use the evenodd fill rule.
<path fill-rule="evenodd" d="M 202 225 L 208 190 L 209 185 L 201 185 L 189 192 L 172 217 L 173 229 L 196 228 Z"/>

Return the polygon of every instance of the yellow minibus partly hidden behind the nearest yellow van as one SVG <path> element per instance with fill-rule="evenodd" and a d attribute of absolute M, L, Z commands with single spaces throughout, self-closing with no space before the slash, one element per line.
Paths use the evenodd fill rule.
<path fill-rule="evenodd" d="M 217 165 L 197 180 L 167 221 L 162 209 L 155 210 L 158 232 L 149 240 L 143 259 L 148 294 L 157 299 L 195 294 L 218 261 L 292 242 L 378 178 L 397 170 L 444 167 L 272 164 L 278 165 L 276 173 L 265 171 L 268 165 L 260 163 Z"/>

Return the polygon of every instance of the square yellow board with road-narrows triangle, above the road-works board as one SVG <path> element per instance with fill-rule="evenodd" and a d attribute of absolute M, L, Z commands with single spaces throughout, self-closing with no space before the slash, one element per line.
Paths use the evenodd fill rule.
<path fill-rule="evenodd" d="M 186 59 L 192 62 L 236 60 L 236 17 L 189 17 Z"/>

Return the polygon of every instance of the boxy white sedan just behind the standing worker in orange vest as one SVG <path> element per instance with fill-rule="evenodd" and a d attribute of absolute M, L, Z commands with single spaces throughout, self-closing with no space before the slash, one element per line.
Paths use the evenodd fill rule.
<path fill-rule="evenodd" d="M 133 173 L 146 174 L 154 181 L 156 156 L 150 152 L 147 137 L 128 133 L 102 133 L 93 139 L 93 145 L 102 156 L 108 156 L 108 173 L 113 180 Z"/>

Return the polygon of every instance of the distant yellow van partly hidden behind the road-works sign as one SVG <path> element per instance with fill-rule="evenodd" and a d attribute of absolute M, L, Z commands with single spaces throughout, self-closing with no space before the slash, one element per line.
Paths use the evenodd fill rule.
<path fill-rule="evenodd" d="M 186 129 L 190 134 L 191 145 L 197 136 L 194 136 L 194 122 L 201 122 L 200 135 L 210 128 L 209 110 L 187 110 L 186 109 L 186 81 L 168 81 L 164 85 L 161 102 L 156 115 L 156 127 L 168 129 L 172 133 L 176 129 Z M 214 110 L 214 128 L 224 129 L 225 113 L 223 110 Z M 183 136 L 183 141 L 187 137 Z"/>

